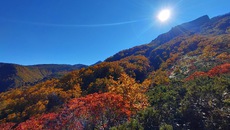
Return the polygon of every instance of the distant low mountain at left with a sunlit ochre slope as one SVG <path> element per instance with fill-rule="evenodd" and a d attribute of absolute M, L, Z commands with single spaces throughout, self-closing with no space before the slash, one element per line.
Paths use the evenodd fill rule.
<path fill-rule="evenodd" d="M 31 86 L 51 78 L 87 67 L 86 65 L 41 64 L 22 66 L 17 64 L 0 63 L 0 92 L 20 86 Z"/>

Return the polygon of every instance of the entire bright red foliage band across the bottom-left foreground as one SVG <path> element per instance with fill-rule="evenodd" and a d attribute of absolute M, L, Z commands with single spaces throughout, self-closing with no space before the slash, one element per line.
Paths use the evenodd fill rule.
<path fill-rule="evenodd" d="M 94 93 L 72 99 L 58 114 L 30 118 L 20 123 L 16 130 L 105 129 L 127 121 L 130 113 L 130 105 L 121 95 Z"/>

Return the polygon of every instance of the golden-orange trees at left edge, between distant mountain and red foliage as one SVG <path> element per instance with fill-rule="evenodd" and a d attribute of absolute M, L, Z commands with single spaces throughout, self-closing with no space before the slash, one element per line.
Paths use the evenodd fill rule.
<path fill-rule="evenodd" d="M 57 95 L 57 100 L 63 103 L 70 98 L 81 95 L 81 88 L 78 84 L 69 90 L 63 90 L 63 88 L 56 87 L 58 82 L 59 80 L 48 80 L 32 87 L 12 89 L 0 93 L 0 117 L 2 117 L 0 122 L 20 122 L 28 117 L 46 112 L 49 97 L 52 95 Z M 18 113 L 17 118 L 14 118 L 14 113 Z"/>

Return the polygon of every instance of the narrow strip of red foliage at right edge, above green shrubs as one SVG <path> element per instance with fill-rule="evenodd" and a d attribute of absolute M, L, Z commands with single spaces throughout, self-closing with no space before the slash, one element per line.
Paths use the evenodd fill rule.
<path fill-rule="evenodd" d="M 202 76 L 213 77 L 213 76 L 218 76 L 218 75 L 221 75 L 221 74 L 226 74 L 226 73 L 229 73 L 229 72 L 230 72 L 230 64 L 226 63 L 226 64 L 218 65 L 218 66 L 212 68 L 207 73 L 205 73 L 205 72 L 195 72 L 192 75 L 190 75 L 188 78 L 186 78 L 185 80 L 186 81 L 194 80 L 194 78 L 202 77 Z"/>

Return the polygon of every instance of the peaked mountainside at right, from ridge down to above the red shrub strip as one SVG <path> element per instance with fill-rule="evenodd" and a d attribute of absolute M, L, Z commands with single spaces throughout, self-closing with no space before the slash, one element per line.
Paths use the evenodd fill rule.
<path fill-rule="evenodd" d="M 195 71 L 189 69 L 191 66 L 198 70 L 207 70 L 222 63 L 229 63 L 229 37 L 230 13 L 211 19 L 205 15 L 173 27 L 149 44 L 120 51 L 105 61 L 119 61 L 130 56 L 142 55 L 148 58 L 151 70 L 164 68 L 174 75 L 177 68 L 181 73 L 186 73 L 186 76 Z M 221 59 L 222 56 L 225 58 Z M 183 66 L 185 62 L 182 61 L 185 60 L 187 65 Z"/>

